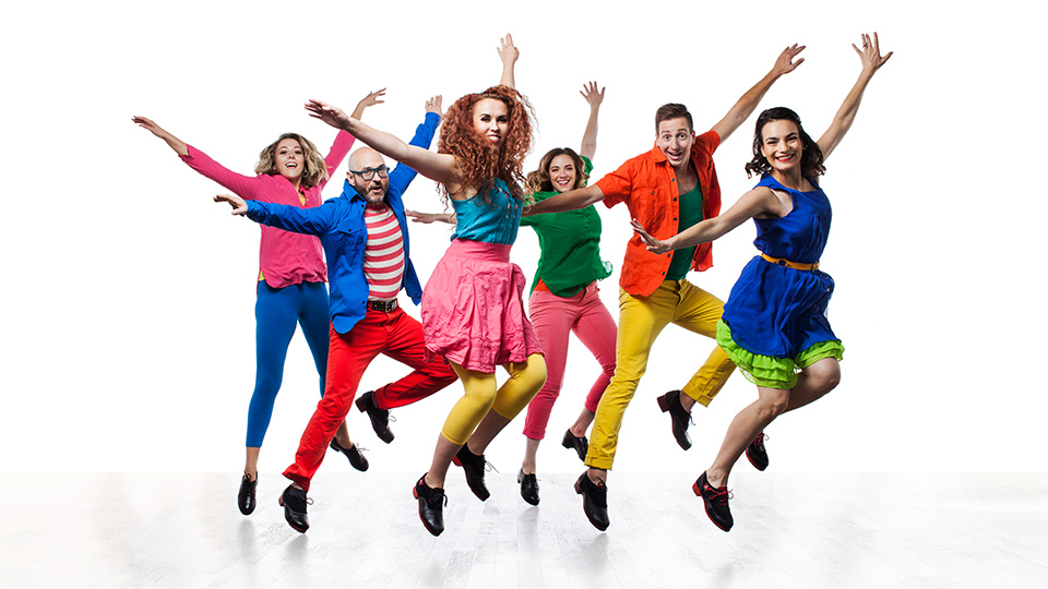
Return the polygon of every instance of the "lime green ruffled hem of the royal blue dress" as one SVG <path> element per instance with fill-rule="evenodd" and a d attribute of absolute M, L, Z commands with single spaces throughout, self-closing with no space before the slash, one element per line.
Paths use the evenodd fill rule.
<path fill-rule="evenodd" d="M 746 380 L 757 386 L 769 388 L 793 388 L 797 385 L 797 373 L 823 358 L 844 359 L 844 345 L 839 339 L 830 339 L 812 344 L 795 358 L 776 358 L 748 351 L 731 339 L 731 328 L 720 320 L 717 322 L 717 345 L 728 358 L 739 366 Z"/>

